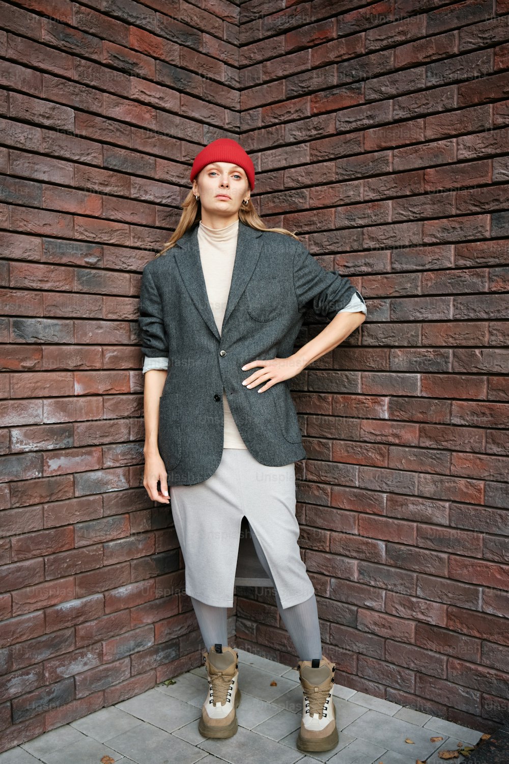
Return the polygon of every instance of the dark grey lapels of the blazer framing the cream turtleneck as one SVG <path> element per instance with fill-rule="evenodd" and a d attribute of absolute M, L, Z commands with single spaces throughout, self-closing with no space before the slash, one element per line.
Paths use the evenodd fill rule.
<path fill-rule="evenodd" d="M 257 231 L 255 228 L 251 228 L 250 225 L 246 225 L 239 220 L 234 270 L 231 275 L 230 292 L 228 293 L 221 332 L 224 330 L 224 325 L 230 313 L 237 305 L 240 295 L 245 290 L 247 282 L 250 280 L 256 267 L 262 249 L 261 235 L 262 231 Z M 179 238 L 173 251 L 175 253 L 176 264 L 179 267 L 180 275 L 189 296 L 193 303 L 195 303 L 201 318 L 208 325 L 208 328 L 217 339 L 221 339 L 211 305 L 208 302 L 207 287 L 205 286 L 205 278 L 201 268 L 198 223 Z"/>

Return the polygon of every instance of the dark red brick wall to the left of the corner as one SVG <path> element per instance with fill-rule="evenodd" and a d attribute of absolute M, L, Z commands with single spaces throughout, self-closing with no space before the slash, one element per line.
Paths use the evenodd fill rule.
<path fill-rule="evenodd" d="M 200 662 L 143 488 L 138 295 L 195 154 L 240 129 L 236 5 L 23 5 L 0 3 L 2 750 Z"/>

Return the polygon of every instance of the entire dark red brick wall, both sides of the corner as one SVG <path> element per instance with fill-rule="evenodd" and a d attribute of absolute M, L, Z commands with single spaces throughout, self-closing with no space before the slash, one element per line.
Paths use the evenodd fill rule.
<path fill-rule="evenodd" d="M 507 0 L 24 5 L 0 3 L 0 749 L 199 663 L 171 514 L 142 484 L 137 296 L 225 134 L 266 224 L 368 300 L 293 384 L 324 653 L 349 687 L 490 729 L 509 700 Z M 236 643 L 292 665 L 272 593 L 240 591 Z"/>

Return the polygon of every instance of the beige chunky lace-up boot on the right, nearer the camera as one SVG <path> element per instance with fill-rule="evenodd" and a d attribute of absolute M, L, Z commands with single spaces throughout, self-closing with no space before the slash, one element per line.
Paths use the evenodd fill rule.
<path fill-rule="evenodd" d="M 297 747 L 301 751 L 328 751 L 339 740 L 333 702 L 336 667 L 322 654 L 321 660 L 299 661 L 296 668 L 304 693 Z"/>

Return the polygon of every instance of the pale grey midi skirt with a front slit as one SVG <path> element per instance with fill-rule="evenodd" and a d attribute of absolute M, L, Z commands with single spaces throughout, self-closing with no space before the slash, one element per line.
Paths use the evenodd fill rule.
<path fill-rule="evenodd" d="M 282 607 L 314 594 L 298 545 L 294 462 L 270 467 L 246 448 L 224 448 L 210 478 L 195 485 L 170 485 L 169 495 L 188 597 L 233 607 L 244 515 L 266 556 Z"/>

